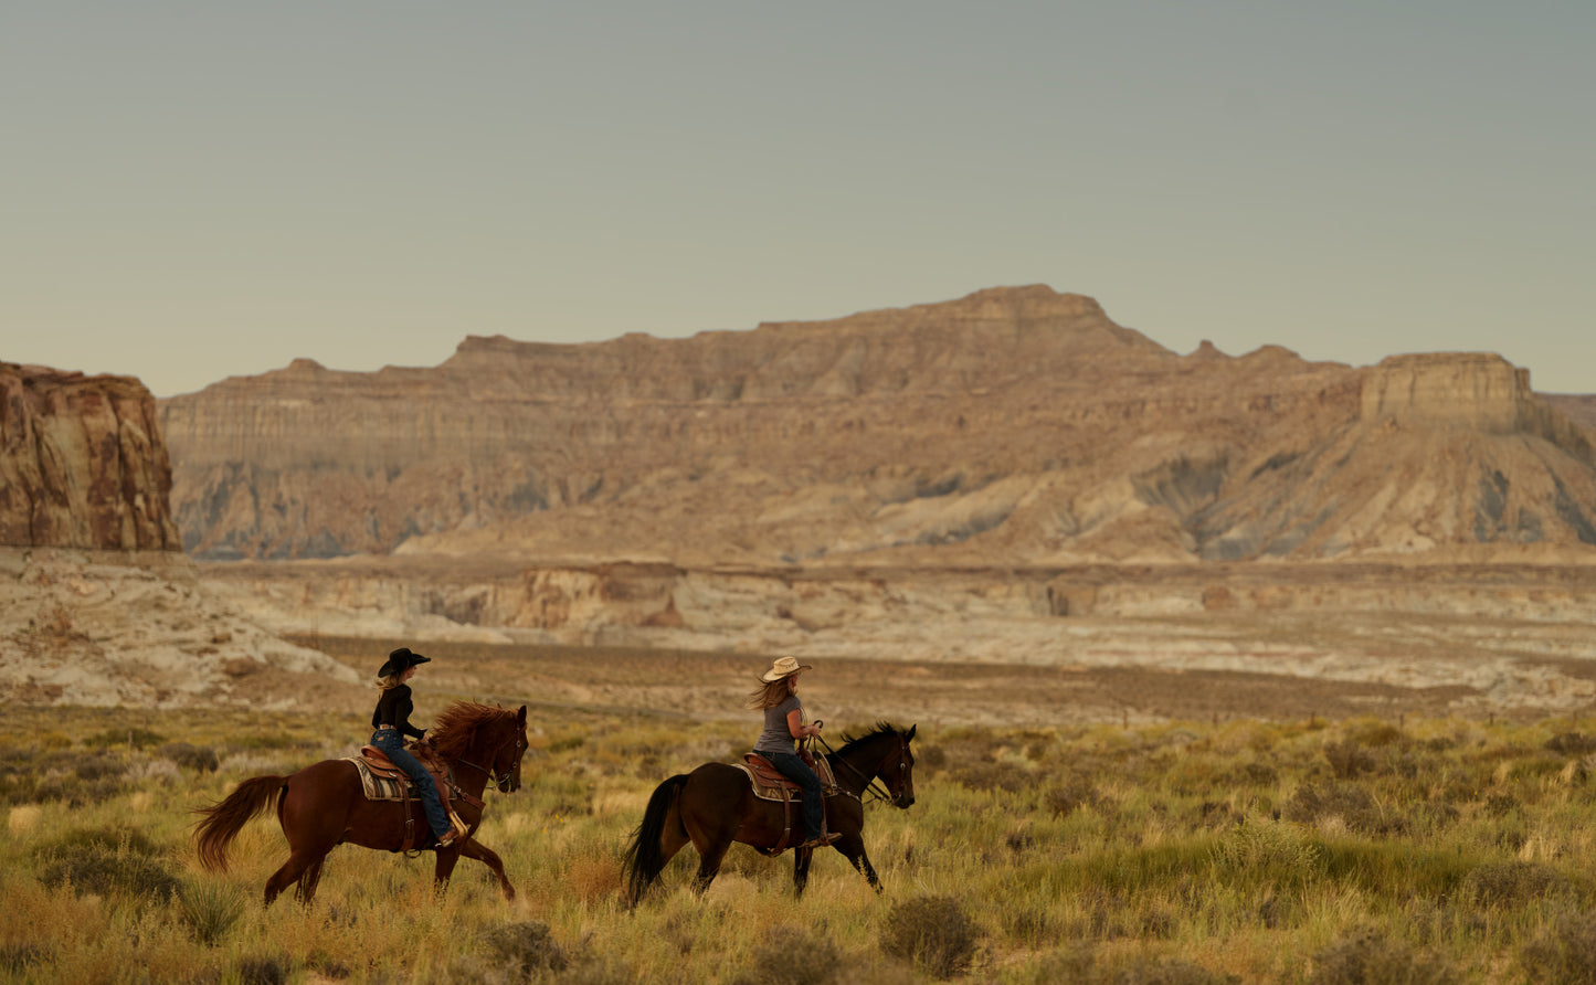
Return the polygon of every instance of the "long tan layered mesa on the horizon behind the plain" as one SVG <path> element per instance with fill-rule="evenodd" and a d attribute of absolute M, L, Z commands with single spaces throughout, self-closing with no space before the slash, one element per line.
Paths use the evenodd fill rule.
<path fill-rule="evenodd" d="M 207 559 L 991 567 L 1596 544 L 1590 431 L 1489 354 L 1178 356 L 1041 286 L 161 402 Z M 1567 559 L 1564 559 L 1567 560 Z"/>

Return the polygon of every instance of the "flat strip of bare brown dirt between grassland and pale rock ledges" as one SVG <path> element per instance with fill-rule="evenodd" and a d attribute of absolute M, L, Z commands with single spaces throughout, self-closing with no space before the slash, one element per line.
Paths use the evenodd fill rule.
<path fill-rule="evenodd" d="M 297 637 L 361 671 L 383 663 L 401 640 Z M 662 718 L 741 718 L 768 661 L 742 655 L 575 647 L 417 647 L 433 658 L 418 682 L 440 698 L 567 709 L 632 710 Z M 1085 723 L 1224 722 L 1232 718 L 1396 720 L 1457 714 L 1467 686 L 1403 688 L 1282 674 L 1152 667 L 816 659 L 804 707 L 835 728 L 878 718 L 921 725 L 1049 726 Z M 322 707 L 364 710 L 364 688 L 329 688 Z M 1479 717 L 1499 712 L 1481 710 Z M 1515 717 L 1537 717 L 1534 710 Z"/>

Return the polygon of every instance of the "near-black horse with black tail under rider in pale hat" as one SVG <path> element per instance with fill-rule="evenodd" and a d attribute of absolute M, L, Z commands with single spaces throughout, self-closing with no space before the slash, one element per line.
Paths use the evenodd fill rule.
<path fill-rule="evenodd" d="M 833 845 L 854 868 L 881 892 L 881 880 L 865 854 L 865 806 L 860 797 L 879 777 L 886 787 L 886 800 L 907 809 L 915 803 L 915 754 L 908 731 L 876 723 L 875 730 L 859 738 L 843 736 L 846 744 L 825 758 L 832 763 L 841 793 L 825 801 L 827 829 L 843 837 Z M 782 805 L 753 795 L 749 774 L 731 763 L 704 763 L 693 773 L 678 773 L 654 789 L 643 811 L 643 824 L 632 833 L 626 849 L 626 880 L 630 900 L 635 904 L 659 880 L 666 864 L 691 841 L 699 852 L 699 870 L 693 889 L 702 892 L 715 881 L 721 859 L 733 841 L 771 849 L 780 838 L 787 822 Z M 793 805 L 793 811 L 798 811 Z M 809 860 L 814 849 L 795 849 L 793 889 L 803 896 L 809 881 Z"/>

